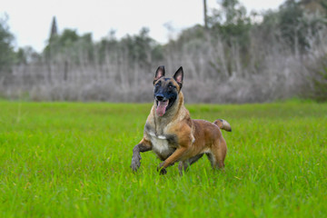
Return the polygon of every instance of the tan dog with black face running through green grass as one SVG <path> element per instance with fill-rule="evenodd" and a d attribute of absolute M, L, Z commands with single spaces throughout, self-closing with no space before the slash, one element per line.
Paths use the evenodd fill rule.
<path fill-rule="evenodd" d="M 159 66 L 154 76 L 154 106 L 144 126 L 144 137 L 134 146 L 131 167 L 137 171 L 141 155 L 153 150 L 163 162 L 157 170 L 165 174 L 166 168 L 180 162 L 180 174 L 206 154 L 215 168 L 223 168 L 227 152 L 220 129 L 231 132 L 231 125 L 218 119 L 213 123 L 192 120 L 183 105 L 183 67 L 173 78 L 164 77 L 164 66 Z"/>

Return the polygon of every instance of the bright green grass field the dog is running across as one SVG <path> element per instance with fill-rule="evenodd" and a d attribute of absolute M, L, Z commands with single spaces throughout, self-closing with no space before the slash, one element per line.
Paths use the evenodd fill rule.
<path fill-rule="evenodd" d="M 327 217 L 327 104 L 186 107 L 232 125 L 225 173 L 132 173 L 151 104 L 0 102 L 0 217 Z"/>

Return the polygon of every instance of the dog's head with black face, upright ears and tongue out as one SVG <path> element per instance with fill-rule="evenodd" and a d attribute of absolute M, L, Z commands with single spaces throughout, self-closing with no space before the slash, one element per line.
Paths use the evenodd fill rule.
<path fill-rule="evenodd" d="M 183 86 L 183 67 L 181 66 L 173 78 L 164 77 L 164 66 L 159 66 L 154 75 L 154 100 L 156 114 L 163 116 L 176 102 Z"/>

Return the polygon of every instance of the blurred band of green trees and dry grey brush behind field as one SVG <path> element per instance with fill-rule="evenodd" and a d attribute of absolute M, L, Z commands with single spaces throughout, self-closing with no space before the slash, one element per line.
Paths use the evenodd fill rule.
<path fill-rule="evenodd" d="M 237 0 L 220 1 L 206 25 L 184 29 L 160 45 L 143 28 L 99 42 L 75 30 L 57 32 L 55 19 L 42 53 L 14 51 L 0 20 L 0 94 L 59 101 L 148 102 L 158 65 L 183 65 L 190 103 L 327 99 L 327 1 L 287 0 L 278 10 L 247 13 Z"/>

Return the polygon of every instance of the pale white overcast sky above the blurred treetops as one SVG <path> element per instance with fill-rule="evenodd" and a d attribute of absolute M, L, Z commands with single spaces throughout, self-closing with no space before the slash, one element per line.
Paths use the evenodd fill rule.
<path fill-rule="evenodd" d="M 217 7 L 207 0 L 208 11 Z M 248 12 L 275 9 L 284 0 L 240 0 Z M 203 24 L 203 0 L 0 0 L 0 17 L 9 16 L 7 24 L 15 35 L 15 47 L 31 45 L 41 52 L 49 37 L 53 16 L 59 33 L 75 29 L 79 35 L 92 33 L 95 41 L 116 31 L 117 37 L 139 33 L 142 27 L 160 43 L 170 36 L 164 24 L 175 32 Z"/>

